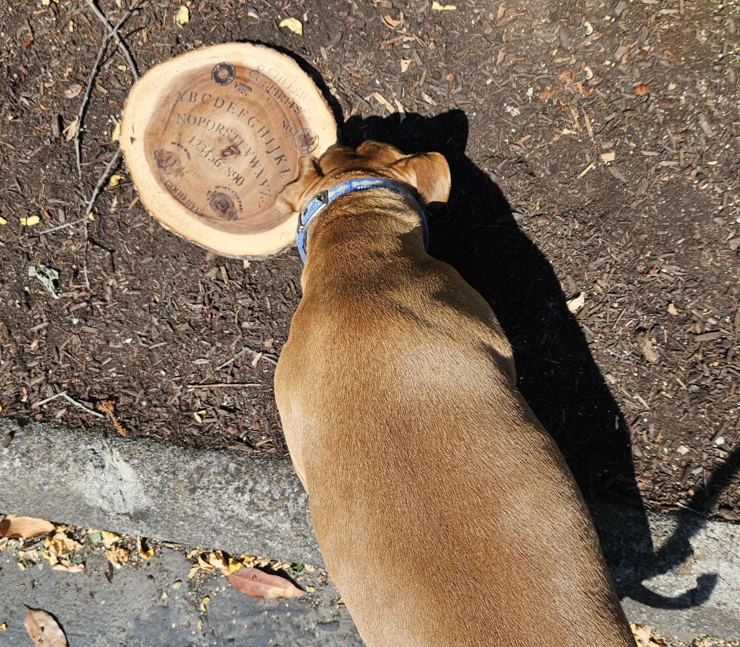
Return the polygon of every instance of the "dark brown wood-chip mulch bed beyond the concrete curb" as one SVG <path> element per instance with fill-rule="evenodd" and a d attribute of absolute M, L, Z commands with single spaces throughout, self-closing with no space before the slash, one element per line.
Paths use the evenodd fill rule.
<path fill-rule="evenodd" d="M 217 42 L 284 47 L 323 79 L 343 142 L 447 156 L 431 253 L 491 302 L 587 497 L 740 519 L 738 5 L 184 4 L 182 26 L 164 0 L 125 24 L 140 71 Z M 278 27 L 286 16 L 303 36 Z M 40 233 L 84 213 L 117 147 L 132 75 L 109 50 L 78 182 L 64 129 L 82 95 L 67 95 L 102 36 L 83 1 L 0 10 L 1 414 L 115 433 L 62 398 L 36 406 L 67 391 L 96 411 L 113 400 L 129 434 L 285 454 L 272 375 L 300 300 L 295 249 L 241 261 L 178 239 L 123 163 L 87 249 L 79 227 Z M 61 299 L 31 265 L 58 271 Z M 197 386 L 225 383 L 254 386 Z"/>

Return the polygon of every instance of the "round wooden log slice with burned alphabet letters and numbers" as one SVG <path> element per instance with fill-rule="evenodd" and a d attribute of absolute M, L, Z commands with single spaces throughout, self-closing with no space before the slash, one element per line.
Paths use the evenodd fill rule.
<path fill-rule="evenodd" d="M 228 256 L 290 245 L 297 215 L 275 196 L 297 160 L 337 141 L 320 91 L 269 47 L 202 47 L 152 67 L 132 88 L 121 122 L 141 201 L 166 228 Z"/>

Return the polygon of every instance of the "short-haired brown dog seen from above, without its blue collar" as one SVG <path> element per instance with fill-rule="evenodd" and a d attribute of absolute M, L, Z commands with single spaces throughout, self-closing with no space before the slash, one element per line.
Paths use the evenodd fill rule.
<path fill-rule="evenodd" d="M 439 153 L 366 142 L 303 159 L 303 209 L 349 178 L 445 202 Z M 480 294 L 388 190 L 312 225 L 275 397 L 329 574 L 369 647 L 634 647 L 588 509 L 519 394 Z"/>

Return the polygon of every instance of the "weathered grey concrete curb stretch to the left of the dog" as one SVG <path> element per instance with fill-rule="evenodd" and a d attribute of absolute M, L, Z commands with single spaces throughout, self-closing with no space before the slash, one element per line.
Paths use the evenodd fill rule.
<path fill-rule="evenodd" d="M 321 566 L 285 459 L 0 419 L 0 511 Z"/>

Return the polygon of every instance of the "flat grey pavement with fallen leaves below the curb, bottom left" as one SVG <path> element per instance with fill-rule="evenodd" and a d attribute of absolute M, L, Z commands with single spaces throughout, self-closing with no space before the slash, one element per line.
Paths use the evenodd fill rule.
<path fill-rule="evenodd" d="M 124 565 L 109 582 L 101 551 L 86 555 L 81 575 L 52 571 L 45 562 L 41 571 L 21 571 L 0 553 L 0 623 L 7 624 L 0 645 L 30 645 L 27 605 L 53 614 L 70 647 L 362 646 L 331 585 L 306 599 L 262 600 L 220 575 L 194 586 L 184 555 L 163 548 L 149 562 Z M 200 610 L 205 595 L 207 613 Z"/>

